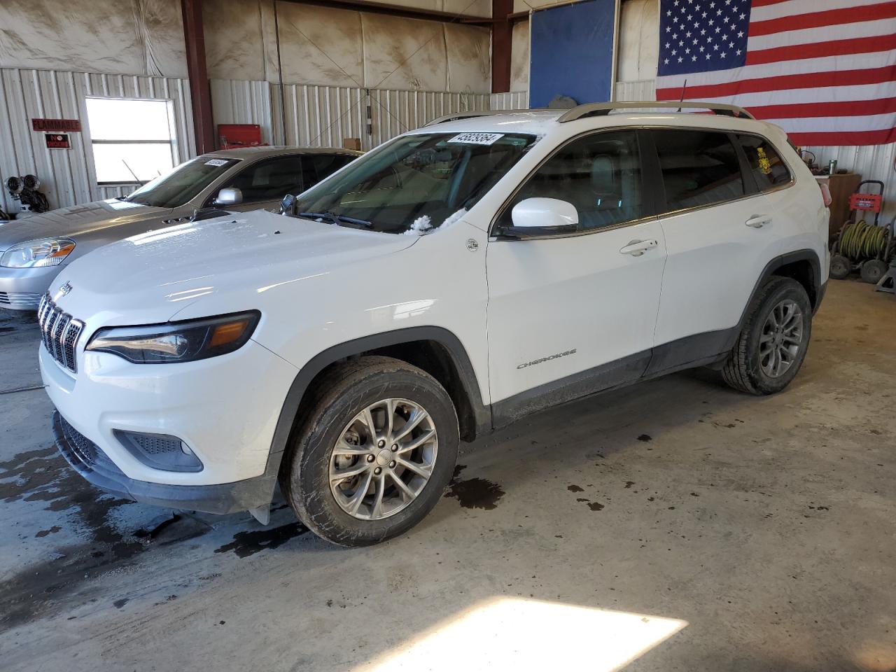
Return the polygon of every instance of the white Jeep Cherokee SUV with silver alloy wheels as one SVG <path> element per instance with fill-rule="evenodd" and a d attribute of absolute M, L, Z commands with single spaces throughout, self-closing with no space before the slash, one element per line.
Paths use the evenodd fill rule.
<path fill-rule="evenodd" d="M 691 366 L 779 392 L 825 289 L 822 193 L 740 108 L 638 106 L 440 119 L 282 216 L 77 260 L 39 310 L 60 451 L 119 495 L 263 522 L 279 481 L 354 546 L 420 521 L 461 439 L 539 409 Z"/>

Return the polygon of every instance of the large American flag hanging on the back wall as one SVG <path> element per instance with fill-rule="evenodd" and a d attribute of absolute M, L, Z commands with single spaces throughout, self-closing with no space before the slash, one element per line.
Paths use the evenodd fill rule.
<path fill-rule="evenodd" d="M 799 145 L 896 142 L 896 2 L 660 0 L 659 11 L 658 100 L 739 105 Z"/>

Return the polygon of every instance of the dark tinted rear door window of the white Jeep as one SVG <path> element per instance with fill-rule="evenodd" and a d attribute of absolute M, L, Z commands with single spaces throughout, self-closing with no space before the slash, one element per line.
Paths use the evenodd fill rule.
<path fill-rule="evenodd" d="M 737 149 L 728 134 L 684 129 L 652 134 L 668 211 L 730 201 L 745 194 Z"/>

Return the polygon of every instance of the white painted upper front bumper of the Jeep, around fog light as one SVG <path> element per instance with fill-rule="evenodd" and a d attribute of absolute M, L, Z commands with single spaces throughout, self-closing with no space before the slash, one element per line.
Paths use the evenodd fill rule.
<path fill-rule="evenodd" d="M 253 340 L 217 358 L 140 365 L 84 350 L 89 337 L 87 327 L 75 349 L 76 374 L 41 343 L 40 375 L 60 415 L 126 478 L 194 487 L 264 475 L 295 367 Z M 202 470 L 160 469 L 129 450 L 116 432 L 177 437 Z"/>

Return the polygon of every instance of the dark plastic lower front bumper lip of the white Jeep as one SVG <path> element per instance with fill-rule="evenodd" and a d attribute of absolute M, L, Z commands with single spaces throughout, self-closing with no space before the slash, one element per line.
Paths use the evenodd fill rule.
<path fill-rule="evenodd" d="M 237 513 L 271 503 L 277 483 L 272 465 L 258 477 L 211 486 L 172 486 L 127 478 L 97 444 L 71 426 L 59 411 L 53 413 L 56 448 L 72 469 L 90 484 L 143 504 L 205 513 Z"/>

